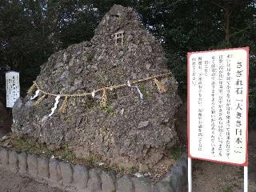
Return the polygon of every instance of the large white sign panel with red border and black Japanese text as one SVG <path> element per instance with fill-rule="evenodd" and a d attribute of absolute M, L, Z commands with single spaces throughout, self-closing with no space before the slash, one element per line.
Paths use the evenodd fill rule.
<path fill-rule="evenodd" d="M 188 54 L 189 157 L 247 165 L 249 48 Z"/>

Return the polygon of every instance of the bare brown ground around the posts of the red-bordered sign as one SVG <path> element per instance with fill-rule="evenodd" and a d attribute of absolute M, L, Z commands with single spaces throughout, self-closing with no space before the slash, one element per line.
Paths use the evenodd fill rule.
<path fill-rule="evenodd" d="M 256 191 L 256 130 L 249 132 L 249 192 Z M 193 159 L 193 191 L 242 192 L 243 167 Z M 187 186 L 182 192 L 188 191 Z"/>

